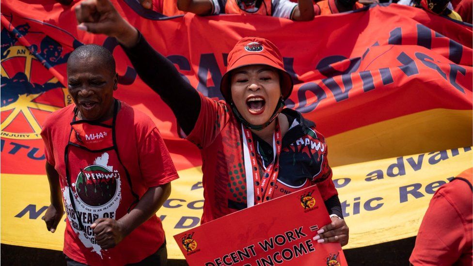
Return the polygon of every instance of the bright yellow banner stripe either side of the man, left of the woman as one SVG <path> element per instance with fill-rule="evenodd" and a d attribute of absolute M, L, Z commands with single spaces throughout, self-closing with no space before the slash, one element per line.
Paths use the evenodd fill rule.
<path fill-rule="evenodd" d="M 168 257 L 183 259 L 173 235 L 200 224 L 204 196 L 200 167 L 179 171 L 171 195 L 158 211 L 166 232 Z M 63 250 L 65 222 L 55 233 L 41 219 L 49 205 L 46 175 L 1 174 L 1 243 Z M 63 217 L 65 219 L 65 215 Z"/>

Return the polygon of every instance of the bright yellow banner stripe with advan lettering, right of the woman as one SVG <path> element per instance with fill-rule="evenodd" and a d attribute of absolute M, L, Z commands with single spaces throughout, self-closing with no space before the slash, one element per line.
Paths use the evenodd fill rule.
<path fill-rule="evenodd" d="M 472 160 L 467 147 L 333 168 L 350 228 L 345 249 L 417 235 L 433 193 Z"/>

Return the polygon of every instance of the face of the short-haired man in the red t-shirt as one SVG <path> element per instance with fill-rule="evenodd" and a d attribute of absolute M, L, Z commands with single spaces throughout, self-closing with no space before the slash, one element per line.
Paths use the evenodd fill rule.
<path fill-rule="evenodd" d="M 118 76 L 89 56 L 67 64 L 69 94 L 85 120 L 102 120 L 113 108 Z"/>

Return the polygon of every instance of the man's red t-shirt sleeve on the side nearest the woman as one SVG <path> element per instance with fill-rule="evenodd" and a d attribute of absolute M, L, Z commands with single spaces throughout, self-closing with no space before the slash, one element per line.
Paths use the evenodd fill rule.
<path fill-rule="evenodd" d="M 143 181 L 148 188 L 179 178 L 158 128 L 155 127 L 140 143 L 138 153 Z"/>

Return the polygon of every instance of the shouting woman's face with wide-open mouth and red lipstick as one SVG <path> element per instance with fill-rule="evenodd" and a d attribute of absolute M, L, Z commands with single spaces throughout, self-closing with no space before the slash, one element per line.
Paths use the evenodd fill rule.
<path fill-rule="evenodd" d="M 278 70 L 262 64 L 237 68 L 232 73 L 231 92 L 241 116 L 252 125 L 263 125 L 281 97 Z"/>

